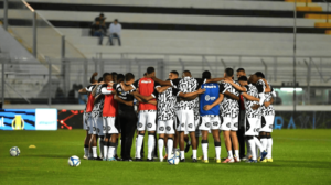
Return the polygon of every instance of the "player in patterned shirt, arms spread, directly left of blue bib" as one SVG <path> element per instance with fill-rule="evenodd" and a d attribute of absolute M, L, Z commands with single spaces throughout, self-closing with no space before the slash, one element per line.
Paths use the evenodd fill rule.
<path fill-rule="evenodd" d="M 201 78 L 193 78 L 190 70 L 184 70 L 182 78 L 173 79 L 170 81 L 162 81 L 156 76 L 152 76 L 152 79 L 157 83 L 161 84 L 162 86 L 173 86 L 177 87 L 181 92 L 194 92 L 200 88 L 202 84 L 205 83 L 213 83 L 222 80 L 223 78 L 214 78 L 214 79 L 201 79 Z M 179 118 L 179 126 L 177 130 L 180 134 L 180 155 L 181 162 L 185 161 L 184 156 L 184 133 L 189 132 L 192 142 L 192 161 L 197 162 L 196 160 L 196 139 L 195 139 L 195 126 L 194 126 L 194 111 L 193 108 L 197 104 L 197 95 L 185 98 L 185 100 L 180 100 L 177 102 L 178 111 L 177 116 Z"/>

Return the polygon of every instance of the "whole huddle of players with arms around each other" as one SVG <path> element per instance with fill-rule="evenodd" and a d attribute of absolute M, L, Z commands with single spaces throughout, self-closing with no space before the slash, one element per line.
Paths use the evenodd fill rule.
<path fill-rule="evenodd" d="M 98 80 L 96 76 L 97 73 L 92 76 L 92 84 L 79 90 L 88 96 L 84 159 L 132 161 L 131 146 L 137 132 L 135 161 L 142 161 L 143 138 L 148 132 L 147 161 L 159 157 L 162 162 L 180 151 L 180 162 L 185 162 L 185 153 L 192 146 L 192 161 L 209 163 L 207 139 L 212 133 L 216 163 L 273 162 L 271 104 L 276 94 L 260 72 L 247 78 L 239 68 L 237 80 L 232 68 L 226 68 L 220 78 L 212 78 L 209 70 L 202 73 L 202 78 L 193 78 L 184 70 L 179 78 L 179 73 L 172 70 L 169 79 L 161 80 L 153 67 L 148 67 L 138 80 L 131 73 L 105 73 Z M 227 150 L 223 161 L 222 132 Z M 203 156 L 197 157 L 200 138 Z M 121 157 L 117 155 L 118 143 Z"/>

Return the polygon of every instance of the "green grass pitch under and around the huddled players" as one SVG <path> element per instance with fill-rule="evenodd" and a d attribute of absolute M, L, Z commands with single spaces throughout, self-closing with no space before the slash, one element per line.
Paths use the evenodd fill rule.
<path fill-rule="evenodd" d="M 257 164 L 216 164 L 210 138 L 209 164 L 188 160 L 175 166 L 167 162 L 85 161 L 84 137 L 83 130 L 0 131 L 0 184 L 331 184 L 331 130 L 276 130 L 274 163 Z M 29 149 L 31 144 L 36 149 Z M 10 156 L 11 146 L 19 146 L 21 155 Z M 68 166 L 71 155 L 81 157 L 81 166 Z M 186 159 L 190 155 L 191 151 Z"/>

